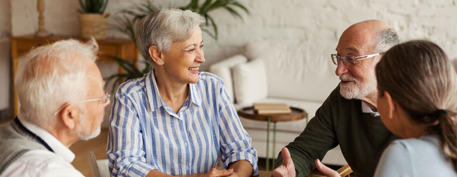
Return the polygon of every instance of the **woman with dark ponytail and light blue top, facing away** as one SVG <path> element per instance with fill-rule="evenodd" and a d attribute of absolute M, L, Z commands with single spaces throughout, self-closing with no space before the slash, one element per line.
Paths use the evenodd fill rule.
<path fill-rule="evenodd" d="M 393 134 L 376 177 L 457 177 L 457 74 L 426 40 L 393 46 L 376 66 L 377 108 Z"/>

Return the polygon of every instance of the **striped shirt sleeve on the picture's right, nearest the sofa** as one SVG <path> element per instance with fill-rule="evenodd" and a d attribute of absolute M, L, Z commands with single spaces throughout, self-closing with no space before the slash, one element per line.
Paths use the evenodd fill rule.
<path fill-rule="evenodd" d="M 244 130 L 239 117 L 224 86 L 220 89 L 220 100 L 218 104 L 219 132 L 221 160 L 223 168 L 227 169 L 228 164 L 240 160 L 249 161 L 252 165 L 253 176 L 259 175 L 257 166 L 257 151 L 251 146 L 251 137 Z"/>

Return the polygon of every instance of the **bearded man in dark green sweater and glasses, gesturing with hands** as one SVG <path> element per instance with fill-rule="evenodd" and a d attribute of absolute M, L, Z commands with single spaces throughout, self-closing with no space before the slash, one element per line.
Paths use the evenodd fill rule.
<path fill-rule="evenodd" d="M 375 66 L 381 55 L 399 43 L 397 33 L 380 20 L 351 25 L 340 37 L 332 60 L 340 84 L 316 111 L 303 132 L 282 149 L 274 177 L 307 176 L 319 160 L 340 145 L 357 177 L 371 177 L 393 135 L 377 113 Z M 324 172 L 324 174 L 327 174 Z"/>

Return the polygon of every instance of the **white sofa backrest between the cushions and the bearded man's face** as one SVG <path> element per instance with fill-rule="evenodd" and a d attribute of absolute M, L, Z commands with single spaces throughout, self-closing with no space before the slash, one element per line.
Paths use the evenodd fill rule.
<path fill-rule="evenodd" d="M 256 41 L 246 46 L 245 56 L 265 63 L 268 97 L 324 102 L 339 82 L 328 46 L 311 51 L 311 44 L 300 42 Z M 328 53 L 328 57 L 323 55 Z M 327 56 L 327 55 L 325 55 Z M 237 81 L 235 81 L 237 82 Z"/>

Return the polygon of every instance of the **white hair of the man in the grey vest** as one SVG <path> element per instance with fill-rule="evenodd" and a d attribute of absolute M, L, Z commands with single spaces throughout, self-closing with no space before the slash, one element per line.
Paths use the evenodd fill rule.
<path fill-rule="evenodd" d="M 83 44 L 60 40 L 30 51 L 14 80 L 22 119 L 45 129 L 55 125 L 54 112 L 66 103 L 87 96 L 86 63 L 81 57 L 96 61 L 95 40 Z M 79 106 L 84 113 L 84 106 Z"/>

